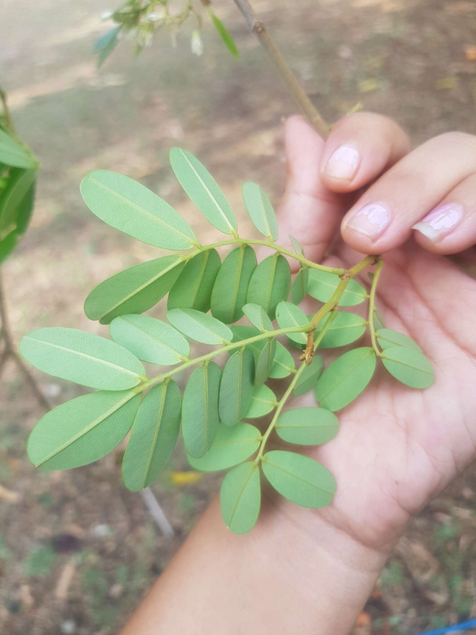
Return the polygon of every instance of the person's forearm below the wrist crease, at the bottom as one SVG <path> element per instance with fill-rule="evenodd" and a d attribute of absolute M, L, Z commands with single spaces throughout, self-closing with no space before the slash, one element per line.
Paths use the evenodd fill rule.
<path fill-rule="evenodd" d="M 215 500 L 122 635 L 347 634 L 390 545 L 368 549 L 319 512 L 303 510 L 303 524 L 286 509 L 239 536 Z"/>

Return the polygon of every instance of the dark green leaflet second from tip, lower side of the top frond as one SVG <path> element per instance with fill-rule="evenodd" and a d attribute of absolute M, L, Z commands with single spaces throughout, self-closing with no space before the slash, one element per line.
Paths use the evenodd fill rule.
<path fill-rule="evenodd" d="M 221 260 L 216 249 L 202 251 L 188 260 L 169 291 L 167 308 L 195 309 L 203 313 L 209 311 L 211 291 L 220 265 Z"/>

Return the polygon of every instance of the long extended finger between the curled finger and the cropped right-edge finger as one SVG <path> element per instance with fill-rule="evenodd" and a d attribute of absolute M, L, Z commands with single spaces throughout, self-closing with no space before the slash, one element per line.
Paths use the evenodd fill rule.
<path fill-rule="evenodd" d="M 446 133 L 420 145 L 390 168 L 348 211 L 343 239 L 363 253 L 404 243 L 414 224 L 476 171 L 476 137 Z"/>

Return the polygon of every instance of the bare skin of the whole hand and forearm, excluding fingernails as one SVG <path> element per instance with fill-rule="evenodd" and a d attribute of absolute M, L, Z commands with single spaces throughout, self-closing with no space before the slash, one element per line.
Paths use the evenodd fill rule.
<path fill-rule="evenodd" d="M 358 153 L 348 178 L 328 171 L 341 145 Z M 333 504 L 304 509 L 265 488 L 256 528 L 237 536 L 213 502 L 122 635 L 348 633 L 409 518 L 475 458 L 476 281 L 442 255 L 476 260 L 476 138 L 450 133 L 409 152 L 397 124 L 359 113 L 324 143 L 291 117 L 286 153 L 281 236 L 333 266 L 383 254 L 377 305 L 389 328 L 422 347 L 435 384 L 409 389 L 380 368 L 338 413 L 338 436 L 305 450 L 336 477 Z M 374 240 L 349 224 L 373 201 L 391 216 Z M 412 229 L 447 202 L 463 210 L 453 231 L 432 241 Z"/>

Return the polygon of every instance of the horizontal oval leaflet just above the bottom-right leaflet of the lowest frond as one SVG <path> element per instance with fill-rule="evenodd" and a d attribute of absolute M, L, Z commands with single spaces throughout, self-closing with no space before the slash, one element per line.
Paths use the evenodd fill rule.
<path fill-rule="evenodd" d="M 319 445 L 336 436 L 339 421 L 325 408 L 294 408 L 279 415 L 275 428 L 277 435 L 288 443 Z"/>

